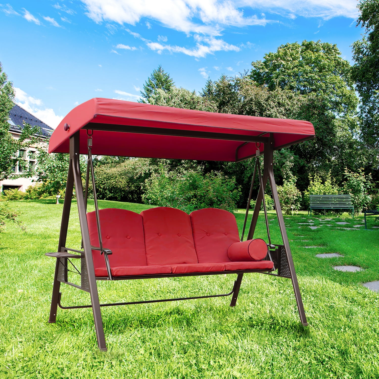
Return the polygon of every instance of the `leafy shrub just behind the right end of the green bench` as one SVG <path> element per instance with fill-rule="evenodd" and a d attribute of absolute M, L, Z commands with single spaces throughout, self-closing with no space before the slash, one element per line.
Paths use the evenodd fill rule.
<path fill-rule="evenodd" d="M 345 169 L 346 182 L 343 183 L 343 192 L 351 195 L 351 202 L 354 205 L 354 212 L 361 213 L 363 208 L 367 208 L 371 201 L 368 189 L 371 188 L 371 174 L 367 176 L 362 168 L 358 172 Z"/>

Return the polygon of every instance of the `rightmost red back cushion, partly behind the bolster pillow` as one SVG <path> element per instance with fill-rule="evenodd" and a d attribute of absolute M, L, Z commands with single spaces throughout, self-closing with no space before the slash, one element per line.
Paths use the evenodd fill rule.
<path fill-rule="evenodd" d="M 199 263 L 230 262 L 228 247 L 240 241 L 233 213 L 205 208 L 193 211 L 189 216 Z"/>

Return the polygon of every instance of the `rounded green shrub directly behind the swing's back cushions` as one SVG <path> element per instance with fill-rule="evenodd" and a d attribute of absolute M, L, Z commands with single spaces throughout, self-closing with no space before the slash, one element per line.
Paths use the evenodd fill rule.
<path fill-rule="evenodd" d="M 183 168 L 168 171 L 163 165 L 145 180 L 144 188 L 142 199 L 145 204 L 151 202 L 187 213 L 201 208 L 233 212 L 241 194 L 235 178 L 221 172 L 211 171 L 203 175 L 200 171 Z"/>

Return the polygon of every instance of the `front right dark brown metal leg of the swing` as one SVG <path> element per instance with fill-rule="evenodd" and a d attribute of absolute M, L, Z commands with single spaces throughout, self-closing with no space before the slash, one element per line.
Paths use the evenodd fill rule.
<path fill-rule="evenodd" d="M 276 214 L 277 214 L 278 222 L 279 222 L 280 234 L 282 235 L 283 245 L 284 245 L 284 249 L 285 249 L 287 260 L 288 260 L 288 266 L 290 268 L 292 285 L 293 285 L 293 290 L 295 293 L 296 303 L 298 304 L 300 321 L 304 326 L 307 326 L 308 323 L 307 323 L 307 318 L 305 317 L 304 306 L 301 299 L 298 278 L 296 277 L 295 267 L 293 265 L 290 243 L 288 242 L 288 236 L 287 236 L 287 231 L 285 229 L 282 208 L 280 207 L 278 191 L 276 189 L 276 183 L 275 183 L 275 178 L 274 178 L 274 168 L 273 168 L 274 166 L 274 159 L 273 159 L 274 139 L 273 139 L 272 134 L 270 134 L 270 136 L 271 136 L 270 143 L 265 144 L 265 163 L 266 163 L 265 168 L 267 168 L 267 171 L 268 171 L 268 179 L 271 186 L 271 192 L 273 194 L 275 210 L 276 210 Z"/>

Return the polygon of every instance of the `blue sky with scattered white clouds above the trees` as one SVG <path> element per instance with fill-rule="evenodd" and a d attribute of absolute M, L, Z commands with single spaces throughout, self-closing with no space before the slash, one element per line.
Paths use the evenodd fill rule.
<path fill-rule="evenodd" d="M 16 102 L 56 127 L 92 97 L 137 101 L 158 64 L 177 86 L 237 75 L 280 44 L 321 40 L 351 61 L 356 0 L 0 0 Z"/>

